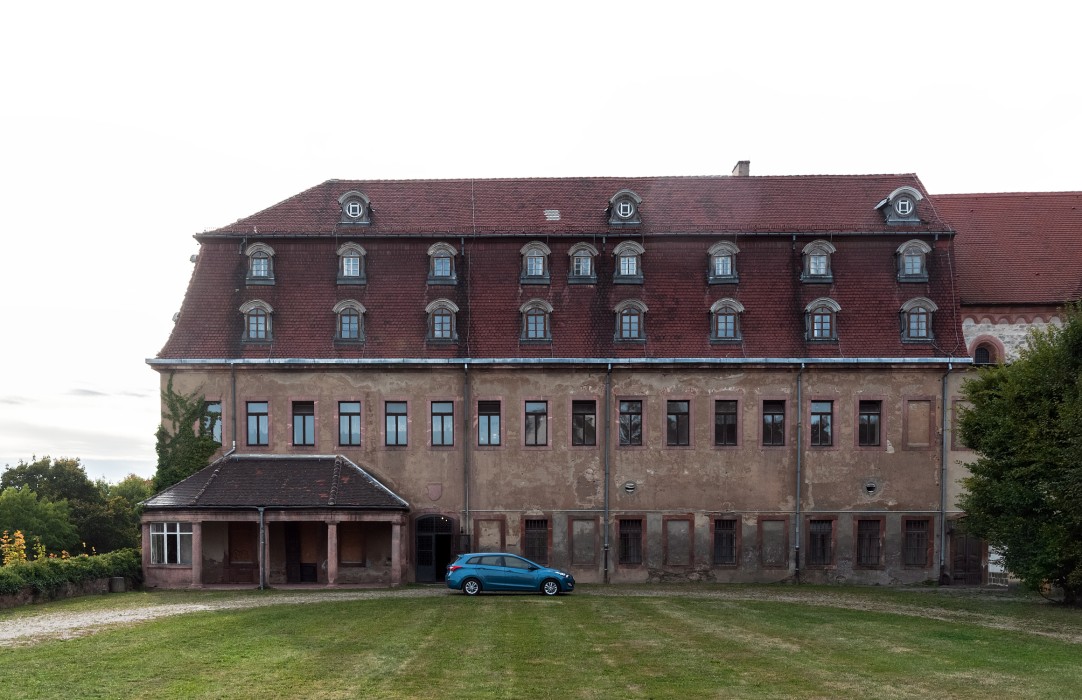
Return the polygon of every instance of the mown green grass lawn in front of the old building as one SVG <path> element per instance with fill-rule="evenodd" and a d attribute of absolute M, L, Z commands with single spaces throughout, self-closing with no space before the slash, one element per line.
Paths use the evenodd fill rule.
<path fill-rule="evenodd" d="M 199 599 L 110 595 L 2 611 L 0 624 Z M 391 594 L 188 613 L 0 659 L 4 698 L 1072 698 L 1082 611 L 819 586 Z"/>

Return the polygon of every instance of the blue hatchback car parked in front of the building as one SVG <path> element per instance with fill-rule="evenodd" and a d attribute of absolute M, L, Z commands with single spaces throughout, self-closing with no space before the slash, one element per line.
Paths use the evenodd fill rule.
<path fill-rule="evenodd" d="M 447 567 L 447 587 L 477 595 L 481 591 L 536 591 L 544 595 L 570 593 L 575 577 L 535 564 L 517 554 L 462 554 Z"/>

